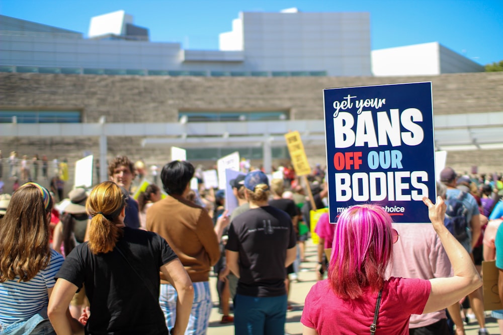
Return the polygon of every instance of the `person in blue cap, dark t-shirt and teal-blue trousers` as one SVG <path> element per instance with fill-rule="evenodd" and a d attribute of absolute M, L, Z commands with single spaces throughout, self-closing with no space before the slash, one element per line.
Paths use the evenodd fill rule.
<path fill-rule="evenodd" d="M 269 181 L 260 170 L 244 179 L 250 209 L 236 216 L 229 228 L 227 267 L 238 278 L 234 307 L 236 334 L 285 330 L 287 295 L 285 268 L 296 256 L 290 216 L 268 204 Z"/>

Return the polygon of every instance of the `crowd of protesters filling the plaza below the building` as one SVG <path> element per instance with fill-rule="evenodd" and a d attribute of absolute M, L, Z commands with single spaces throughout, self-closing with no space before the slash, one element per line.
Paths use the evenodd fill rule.
<path fill-rule="evenodd" d="M 187 161 L 166 163 L 161 187 L 137 200 L 138 168 L 126 156 L 109 163 L 109 181 L 65 200 L 21 169 L 27 182 L 0 195 L 0 334 L 205 334 L 212 275 L 221 323 L 238 335 L 283 334 L 290 280 L 313 231 L 318 282 L 305 298 L 304 334 L 463 334 L 463 307 L 488 333 L 480 265 L 496 259 L 503 271 L 501 176 L 442 170 L 438 197 L 423 199 L 432 225 L 394 224 L 377 204 L 348 208 L 334 225 L 326 213 L 311 222 L 311 210 L 328 205 L 321 166 L 307 183 L 290 165 L 273 179 L 243 166 L 227 181 L 232 212 Z M 456 201 L 463 234 L 447 225 Z M 503 330 L 503 306 L 493 316 Z"/>

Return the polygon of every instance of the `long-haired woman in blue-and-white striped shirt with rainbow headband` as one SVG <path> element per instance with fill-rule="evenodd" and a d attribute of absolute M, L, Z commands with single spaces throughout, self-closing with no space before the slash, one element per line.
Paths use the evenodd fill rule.
<path fill-rule="evenodd" d="M 0 334 L 54 333 L 47 304 L 63 257 L 49 247 L 52 205 L 47 189 L 26 183 L 14 192 L 2 219 Z M 68 305 L 63 308 L 65 318 L 67 311 Z"/>

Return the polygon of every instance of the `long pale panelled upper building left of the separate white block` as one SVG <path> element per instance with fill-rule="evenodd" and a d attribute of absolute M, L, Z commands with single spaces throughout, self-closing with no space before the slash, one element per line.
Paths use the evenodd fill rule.
<path fill-rule="evenodd" d="M 220 50 L 152 43 L 118 11 L 94 17 L 89 39 L 0 16 L 3 71 L 200 76 L 368 76 L 369 13 L 239 13 Z M 9 68 L 16 66 L 16 68 Z"/>

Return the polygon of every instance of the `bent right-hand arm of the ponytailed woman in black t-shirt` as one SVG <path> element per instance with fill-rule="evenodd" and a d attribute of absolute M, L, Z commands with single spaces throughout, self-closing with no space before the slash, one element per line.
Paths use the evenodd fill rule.
<path fill-rule="evenodd" d="M 192 281 L 178 258 L 161 266 L 160 271 L 178 293 L 177 317 L 171 333 L 174 335 L 183 335 L 189 323 L 189 316 L 194 301 Z"/>

